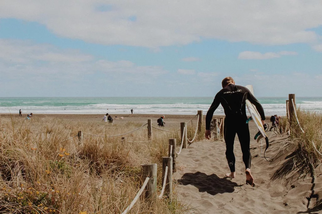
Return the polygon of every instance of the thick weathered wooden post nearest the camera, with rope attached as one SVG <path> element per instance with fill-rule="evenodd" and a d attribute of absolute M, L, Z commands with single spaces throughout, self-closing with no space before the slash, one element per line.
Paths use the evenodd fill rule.
<path fill-rule="evenodd" d="M 156 201 L 156 164 L 141 165 L 141 182 L 143 183 L 147 177 L 149 177 L 150 180 L 144 189 L 145 191 L 141 195 L 141 199 L 153 203 Z"/>

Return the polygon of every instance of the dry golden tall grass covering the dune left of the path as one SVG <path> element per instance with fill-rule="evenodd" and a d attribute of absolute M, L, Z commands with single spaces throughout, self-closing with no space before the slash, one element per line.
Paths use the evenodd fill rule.
<path fill-rule="evenodd" d="M 180 133 L 155 130 L 151 142 L 123 145 L 121 137 L 87 134 L 81 143 L 77 138 L 64 141 L 78 130 L 108 136 L 142 124 L 0 118 L 0 213 L 121 213 L 139 189 L 140 164 L 157 163 L 160 192 L 168 139 L 176 138 L 180 145 Z M 189 131 L 188 137 L 193 134 Z M 126 137 L 127 141 L 146 141 L 147 127 Z M 129 213 L 184 210 L 173 197 L 172 201 L 157 200 L 151 209 L 138 201 Z"/>

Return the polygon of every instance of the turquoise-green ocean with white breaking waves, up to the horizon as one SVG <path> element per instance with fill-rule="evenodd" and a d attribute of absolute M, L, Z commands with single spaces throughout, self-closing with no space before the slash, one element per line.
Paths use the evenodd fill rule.
<path fill-rule="evenodd" d="M 286 115 L 287 97 L 259 97 L 265 115 Z M 23 114 L 206 114 L 213 97 L 15 97 L 0 98 L 0 113 Z M 322 97 L 298 97 L 296 104 L 304 110 L 322 113 Z M 223 115 L 221 105 L 214 113 Z"/>

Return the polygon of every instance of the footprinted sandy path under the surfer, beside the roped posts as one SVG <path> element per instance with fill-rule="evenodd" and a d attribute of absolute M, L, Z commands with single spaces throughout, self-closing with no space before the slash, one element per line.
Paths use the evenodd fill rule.
<path fill-rule="evenodd" d="M 279 142 L 285 137 L 271 138 L 266 156 L 277 152 Z M 275 148 L 274 148 L 275 147 Z M 297 213 L 307 210 L 307 200 L 312 187 L 309 176 L 301 182 L 285 185 L 271 180 L 283 162 L 272 163 L 260 158 L 260 144 L 252 140 L 251 172 L 256 187 L 245 184 L 245 166 L 242 152 L 235 139 L 236 178 L 223 178 L 229 172 L 225 158 L 225 144 L 204 140 L 184 149 L 177 157 L 178 181 L 175 189 L 180 200 L 189 205 L 192 213 Z M 321 187 L 321 184 L 318 184 Z M 309 212 L 311 213 L 311 212 Z"/>

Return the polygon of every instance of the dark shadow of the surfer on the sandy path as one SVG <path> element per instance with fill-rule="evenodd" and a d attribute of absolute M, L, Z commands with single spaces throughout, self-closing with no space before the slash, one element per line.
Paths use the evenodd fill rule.
<path fill-rule="evenodd" d="M 220 178 L 215 174 L 206 175 L 202 172 L 185 173 L 181 179 L 177 180 L 181 185 L 193 185 L 199 189 L 199 192 L 207 192 L 215 195 L 217 193 L 232 193 L 237 183 L 232 182 L 229 178 Z"/>

